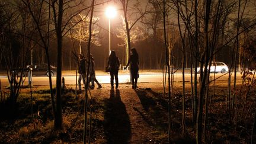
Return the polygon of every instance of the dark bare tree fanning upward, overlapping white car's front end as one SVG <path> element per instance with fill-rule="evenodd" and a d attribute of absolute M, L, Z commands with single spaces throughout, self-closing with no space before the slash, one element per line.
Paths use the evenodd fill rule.
<path fill-rule="evenodd" d="M 206 114 L 204 115 L 204 134 L 206 124 L 207 124 L 207 103 L 208 103 L 208 85 L 209 85 L 209 71 L 210 63 L 212 62 L 213 56 L 215 55 L 215 47 L 216 43 L 219 40 L 219 31 L 220 27 L 223 27 L 219 21 L 223 17 L 223 2 L 218 1 L 215 4 L 212 4 L 211 1 L 200 2 L 181 2 L 174 1 L 175 6 L 178 9 L 178 13 L 181 16 L 181 20 L 183 21 L 184 31 L 188 31 L 186 37 L 190 42 L 190 52 L 191 56 L 194 56 L 194 66 L 195 66 L 195 74 L 194 74 L 194 91 L 192 91 L 192 99 L 193 99 L 193 116 L 196 118 L 196 131 L 197 131 L 197 143 L 201 143 L 201 135 L 202 135 L 202 126 L 203 126 L 203 100 L 206 100 L 204 108 L 206 110 Z M 179 5 L 183 5 L 184 7 L 179 7 Z M 200 5 L 200 8 L 198 8 Z M 217 6 L 217 7 L 216 7 Z M 213 8 L 216 8 L 216 11 Z M 200 11 L 201 17 L 203 19 L 199 19 L 200 16 L 197 15 L 197 12 Z M 194 18 L 194 22 L 193 19 Z M 181 26 L 180 26 L 181 27 Z M 203 31 L 200 31 L 203 30 Z M 180 30 L 181 31 L 181 30 Z M 200 35 L 201 33 L 201 35 Z M 183 36 L 181 34 L 181 36 Z M 184 36 L 183 36 L 184 37 Z M 200 41 L 203 41 L 201 44 Z M 184 45 L 183 40 L 183 47 Z M 183 54 L 184 57 L 184 54 Z M 200 62 L 200 87 L 199 87 L 199 103 L 197 106 L 197 63 Z M 184 65 L 184 63 L 183 63 Z M 184 66 L 183 66 L 184 68 Z M 192 68 L 192 67 L 191 67 Z M 192 70 L 191 70 L 192 76 Z M 191 77 L 191 82 L 193 78 Z M 183 85 L 184 87 L 184 85 Z M 193 85 L 191 84 L 191 89 L 193 89 Z M 204 135 L 204 140 L 207 142 L 207 137 Z"/>

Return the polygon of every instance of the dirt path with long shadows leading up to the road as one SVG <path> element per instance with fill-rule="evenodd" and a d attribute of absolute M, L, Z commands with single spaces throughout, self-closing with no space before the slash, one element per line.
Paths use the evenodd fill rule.
<path fill-rule="evenodd" d="M 104 85 L 103 89 L 92 91 L 95 97 L 105 98 L 108 143 L 154 143 L 156 121 L 148 113 L 156 104 L 151 100 L 154 95 L 146 89 L 159 91 L 156 86 L 158 84 L 140 84 L 139 88 L 132 89 L 131 85 L 121 84 L 119 89 L 111 90 L 110 86 Z"/>

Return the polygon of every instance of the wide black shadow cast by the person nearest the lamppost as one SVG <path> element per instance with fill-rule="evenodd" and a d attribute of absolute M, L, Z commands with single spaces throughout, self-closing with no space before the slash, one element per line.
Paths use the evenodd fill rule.
<path fill-rule="evenodd" d="M 110 90 L 110 98 L 104 101 L 104 132 L 107 143 L 129 143 L 131 136 L 130 120 L 120 91 Z"/>

